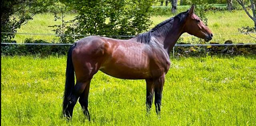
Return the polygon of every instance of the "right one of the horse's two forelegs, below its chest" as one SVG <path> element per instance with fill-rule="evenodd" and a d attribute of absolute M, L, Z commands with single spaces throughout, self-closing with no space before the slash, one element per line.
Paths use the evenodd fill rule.
<path fill-rule="evenodd" d="M 154 81 L 156 114 L 160 116 L 164 75 Z"/>

